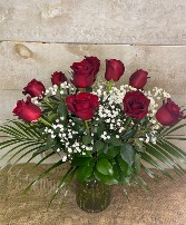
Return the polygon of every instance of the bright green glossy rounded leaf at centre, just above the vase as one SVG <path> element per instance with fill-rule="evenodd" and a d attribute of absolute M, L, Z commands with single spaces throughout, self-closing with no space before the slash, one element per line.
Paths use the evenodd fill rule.
<path fill-rule="evenodd" d="M 96 166 L 97 166 L 98 172 L 104 174 L 104 175 L 112 175 L 114 174 L 112 165 L 106 158 L 100 159 Z"/>

